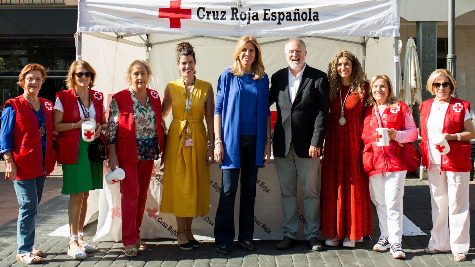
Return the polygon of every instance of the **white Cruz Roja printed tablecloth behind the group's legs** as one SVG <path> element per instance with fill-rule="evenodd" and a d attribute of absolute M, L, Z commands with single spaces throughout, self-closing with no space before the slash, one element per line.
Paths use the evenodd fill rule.
<path fill-rule="evenodd" d="M 158 165 L 158 162 L 155 162 Z M 125 178 L 127 179 L 127 178 Z M 162 176 L 156 175 L 150 181 L 147 203 L 143 213 L 141 238 L 176 238 L 176 220 L 172 214 L 161 213 Z M 259 169 L 256 185 L 256 205 L 254 217 L 254 239 L 282 239 L 282 206 L 280 204 L 280 189 L 274 161 L 271 160 L 265 168 Z M 221 170 L 218 164 L 210 167 L 209 177 L 209 213 L 193 219 L 193 234 L 200 240 L 214 239 L 214 221 L 218 208 L 219 192 L 221 190 Z M 236 236 L 239 218 L 239 187 L 234 208 Z M 302 189 L 298 185 L 299 239 L 304 240 L 304 209 Z M 121 209 L 120 185 L 109 185 L 104 182 L 104 190 L 100 192 L 99 219 L 94 241 L 122 240 L 122 216 L 128 216 Z"/>

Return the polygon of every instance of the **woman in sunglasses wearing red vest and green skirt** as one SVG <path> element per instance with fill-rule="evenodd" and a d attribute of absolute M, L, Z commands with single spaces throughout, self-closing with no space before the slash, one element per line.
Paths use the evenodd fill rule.
<path fill-rule="evenodd" d="M 96 124 L 94 138 L 105 143 L 104 95 L 92 90 L 96 73 L 84 60 L 74 61 L 66 77 L 68 90 L 57 92 L 54 130 L 58 149 L 57 162 L 63 168 L 63 189 L 69 195 L 69 230 L 71 240 L 67 255 L 85 259 L 85 252 L 95 252 L 97 248 L 84 240 L 84 221 L 87 211 L 87 198 L 90 190 L 102 189 L 103 162 L 89 160 L 89 142 L 81 138 L 81 125 L 90 119 Z"/>

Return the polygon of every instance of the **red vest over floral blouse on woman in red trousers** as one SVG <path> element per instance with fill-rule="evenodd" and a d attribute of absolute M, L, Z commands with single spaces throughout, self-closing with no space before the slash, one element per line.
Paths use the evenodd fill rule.
<path fill-rule="evenodd" d="M 157 91 L 146 88 L 147 96 L 155 112 L 157 121 L 158 145 L 163 147 L 163 128 L 161 127 L 161 103 Z M 135 118 L 133 115 L 133 102 L 129 89 L 122 90 L 113 95 L 119 107 L 119 127 L 117 128 L 116 153 L 119 161 L 127 163 L 138 162 L 137 140 L 135 139 Z"/>

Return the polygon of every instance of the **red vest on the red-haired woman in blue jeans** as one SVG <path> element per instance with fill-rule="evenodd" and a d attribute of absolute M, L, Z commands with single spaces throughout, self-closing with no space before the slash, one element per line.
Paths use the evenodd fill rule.
<path fill-rule="evenodd" d="M 46 158 L 45 172 L 49 176 L 56 163 L 56 151 L 53 150 L 53 104 L 39 97 L 45 114 Z M 17 164 L 16 180 L 28 180 L 43 175 L 43 153 L 41 136 L 38 129 L 38 117 L 23 95 L 7 100 L 15 110 L 16 123 L 13 127 L 13 146 L 11 154 Z M 5 176 L 5 179 L 8 179 Z"/>

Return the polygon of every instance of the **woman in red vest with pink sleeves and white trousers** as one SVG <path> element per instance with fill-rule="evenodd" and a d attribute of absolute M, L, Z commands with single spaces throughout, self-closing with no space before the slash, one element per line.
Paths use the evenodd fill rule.
<path fill-rule="evenodd" d="M 390 248 L 393 258 L 406 258 L 402 250 L 402 197 L 404 180 L 411 169 L 401 158 L 400 143 L 414 142 L 418 137 L 416 124 L 405 103 L 393 93 L 388 76 L 375 75 L 370 82 L 364 121 L 361 124 L 363 169 L 370 176 L 380 222 L 380 238 L 373 250 Z M 377 128 L 388 128 L 389 145 L 378 146 L 382 138 Z M 410 170 L 414 171 L 414 170 Z"/>

